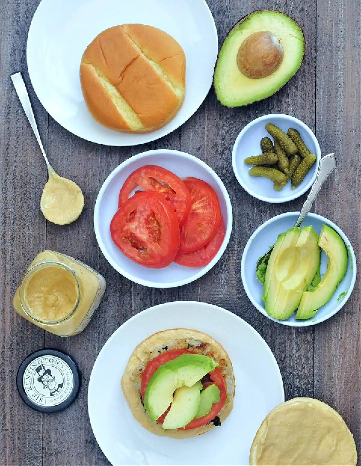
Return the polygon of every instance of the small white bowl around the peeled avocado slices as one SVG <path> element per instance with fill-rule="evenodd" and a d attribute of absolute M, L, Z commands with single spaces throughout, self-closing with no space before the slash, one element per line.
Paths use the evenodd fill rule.
<path fill-rule="evenodd" d="M 287 212 L 281 215 L 277 215 L 270 220 L 267 220 L 257 228 L 248 240 L 246 247 L 244 248 L 241 262 L 241 275 L 242 283 L 247 296 L 250 298 L 252 304 L 260 311 L 263 315 L 273 320 L 274 322 L 282 323 L 284 325 L 291 325 L 293 327 L 306 327 L 308 325 L 314 325 L 320 323 L 332 317 L 336 312 L 342 308 L 348 298 L 350 297 L 354 284 L 356 281 L 356 257 L 354 250 L 351 246 L 350 241 L 347 239 L 345 233 L 340 230 L 333 222 L 325 217 L 321 217 L 315 213 L 309 213 L 305 220 L 302 222 L 302 226 L 312 225 L 316 233 L 320 233 L 321 226 L 323 223 L 331 226 L 344 240 L 347 247 L 348 254 L 348 266 L 345 278 L 340 282 L 338 288 L 334 292 L 330 301 L 326 302 L 324 306 L 319 308 L 317 314 L 308 320 L 296 320 L 293 314 L 285 321 L 280 321 L 270 317 L 265 309 L 261 296 L 263 294 L 263 285 L 257 280 L 256 277 L 256 264 L 260 256 L 265 254 L 268 248 L 275 243 L 279 233 L 284 233 L 289 228 L 292 228 L 299 217 L 299 212 Z M 321 252 L 321 276 L 326 272 L 327 256 L 324 251 Z M 346 294 L 342 296 L 341 294 Z"/>

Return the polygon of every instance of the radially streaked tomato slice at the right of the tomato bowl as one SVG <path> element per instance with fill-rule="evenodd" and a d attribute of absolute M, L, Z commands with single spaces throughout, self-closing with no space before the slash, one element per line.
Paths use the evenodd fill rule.
<path fill-rule="evenodd" d="M 208 244 L 221 223 L 221 210 L 214 189 L 198 178 L 184 180 L 192 206 L 186 223 L 180 230 L 180 253 L 193 253 Z"/>

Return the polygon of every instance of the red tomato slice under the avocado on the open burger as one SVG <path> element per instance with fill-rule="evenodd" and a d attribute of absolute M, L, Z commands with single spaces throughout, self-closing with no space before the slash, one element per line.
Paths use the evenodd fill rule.
<path fill-rule="evenodd" d="M 192 351 L 188 351 L 187 349 L 170 349 L 169 351 L 166 351 L 165 353 L 156 356 L 154 359 L 149 361 L 149 363 L 147 363 L 146 368 L 143 372 L 140 387 L 142 399 L 144 399 L 144 395 L 146 393 L 146 386 L 149 383 L 149 380 L 153 376 L 154 372 L 162 364 L 167 363 L 167 361 L 171 361 L 172 359 L 175 359 L 176 357 L 185 353 L 193 354 Z M 213 403 L 212 409 L 208 412 L 208 414 L 202 416 L 201 418 L 193 419 L 189 424 L 186 425 L 185 429 L 196 429 L 197 427 L 201 427 L 202 425 L 208 424 L 208 422 L 212 421 L 217 416 L 219 411 L 221 411 L 223 404 L 226 401 L 227 389 L 226 384 L 224 383 L 222 372 L 216 367 L 215 370 L 209 372 L 209 377 L 220 390 L 219 401 L 218 403 Z M 203 384 L 203 387 L 206 388 L 210 384 L 211 382 L 205 382 Z M 170 406 L 167 409 L 167 411 L 165 411 L 160 416 L 160 418 L 157 419 L 157 422 L 159 424 L 163 424 L 164 419 L 167 416 L 169 410 Z"/>

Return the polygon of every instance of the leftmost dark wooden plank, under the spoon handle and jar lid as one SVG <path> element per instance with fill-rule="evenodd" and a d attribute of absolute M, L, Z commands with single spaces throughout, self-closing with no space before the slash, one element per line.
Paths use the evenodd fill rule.
<path fill-rule="evenodd" d="M 42 414 L 21 400 L 16 373 L 29 353 L 42 348 L 44 332 L 14 312 L 12 298 L 26 267 L 45 245 L 39 206 L 46 167 L 9 77 L 22 71 L 28 82 L 26 38 L 37 3 L 0 4 L 0 463 L 7 465 L 42 463 Z M 33 92 L 30 97 L 46 147 L 48 117 Z"/>

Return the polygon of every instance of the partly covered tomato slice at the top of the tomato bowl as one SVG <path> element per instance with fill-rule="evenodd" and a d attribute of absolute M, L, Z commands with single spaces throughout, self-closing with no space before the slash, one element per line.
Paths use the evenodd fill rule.
<path fill-rule="evenodd" d="M 191 197 L 184 181 L 177 175 L 156 165 L 138 168 L 125 180 L 119 192 L 118 207 L 125 203 L 136 186 L 140 186 L 144 191 L 155 191 L 164 196 L 172 204 L 179 225 L 185 223 L 191 207 Z"/>

